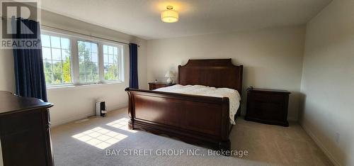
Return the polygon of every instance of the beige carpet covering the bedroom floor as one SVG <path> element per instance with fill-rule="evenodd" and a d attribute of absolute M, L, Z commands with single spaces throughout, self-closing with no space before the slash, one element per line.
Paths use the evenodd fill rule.
<path fill-rule="evenodd" d="M 120 109 L 52 128 L 55 165 L 332 165 L 297 123 L 284 128 L 238 118 L 232 150 L 247 150 L 243 157 L 208 155 L 207 148 L 126 126 L 127 109 Z"/>

